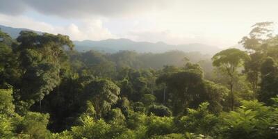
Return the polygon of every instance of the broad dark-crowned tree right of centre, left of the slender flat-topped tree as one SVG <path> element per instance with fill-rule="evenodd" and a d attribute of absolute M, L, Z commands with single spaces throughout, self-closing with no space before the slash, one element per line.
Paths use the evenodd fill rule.
<path fill-rule="evenodd" d="M 166 72 L 158 77 L 156 83 L 165 83 L 167 86 L 167 96 L 172 100 L 170 105 L 173 108 L 173 115 L 183 113 L 184 108 L 192 105 L 193 100 L 202 97 L 200 86 L 202 86 L 203 79 L 202 73 L 198 70 Z"/>

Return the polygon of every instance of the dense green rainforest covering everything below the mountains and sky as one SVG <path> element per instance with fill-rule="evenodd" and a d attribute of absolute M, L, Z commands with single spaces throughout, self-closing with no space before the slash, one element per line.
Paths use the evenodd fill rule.
<path fill-rule="evenodd" d="M 0 138 L 278 138 L 271 25 L 254 25 L 240 41 L 247 51 L 211 60 L 77 52 L 66 35 L 0 31 Z"/>

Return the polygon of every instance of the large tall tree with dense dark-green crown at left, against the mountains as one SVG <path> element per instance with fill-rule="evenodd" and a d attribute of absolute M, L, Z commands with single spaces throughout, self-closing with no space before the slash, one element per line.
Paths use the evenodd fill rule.
<path fill-rule="evenodd" d="M 13 51 L 18 54 L 21 67 L 21 97 L 31 104 L 41 102 L 60 81 L 63 63 L 67 61 L 66 46 L 72 49 L 74 45 L 67 35 L 39 35 L 31 31 L 22 31 L 17 42 Z"/>

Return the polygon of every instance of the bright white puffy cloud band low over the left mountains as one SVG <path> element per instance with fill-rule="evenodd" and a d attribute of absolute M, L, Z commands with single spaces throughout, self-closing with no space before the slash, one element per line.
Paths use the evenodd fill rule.
<path fill-rule="evenodd" d="M 69 35 L 72 40 L 103 40 L 115 38 L 108 28 L 105 28 L 100 19 L 83 20 L 80 24 L 54 26 L 45 22 L 38 22 L 25 16 L 10 16 L 0 14 L 0 24 L 16 28 L 28 28 L 34 31 L 60 33 Z"/>

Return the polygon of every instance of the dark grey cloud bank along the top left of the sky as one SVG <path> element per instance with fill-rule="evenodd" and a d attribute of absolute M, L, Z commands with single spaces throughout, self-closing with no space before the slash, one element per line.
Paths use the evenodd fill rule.
<path fill-rule="evenodd" d="M 32 9 L 60 17 L 110 17 L 163 9 L 169 4 L 167 0 L 1 0 L 0 13 L 21 15 Z"/>

